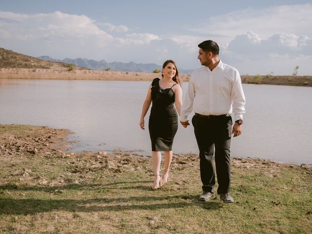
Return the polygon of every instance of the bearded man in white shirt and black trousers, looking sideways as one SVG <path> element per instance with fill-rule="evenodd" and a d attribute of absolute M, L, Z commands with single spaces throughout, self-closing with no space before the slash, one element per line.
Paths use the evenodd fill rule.
<path fill-rule="evenodd" d="M 190 78 L 188 91 L 182 105 L 180 122 L 187 127 L 188 115 L 192 118 L 195 137 L 199 148 L 200 177 L 203 193 L 199 199 L 208 201 L 214 193 L 215 171 L 218 181 L 217 194 L 225 203 L 234 202 L 230 195 L 231 187 L 231 136 L 242 132 L 245 96 L 238 71 L 219 59 L 219 46 L 212 40 L 199 45 L 201 67 Z M 232 130 L 232 117 L 234 126 Z"/>

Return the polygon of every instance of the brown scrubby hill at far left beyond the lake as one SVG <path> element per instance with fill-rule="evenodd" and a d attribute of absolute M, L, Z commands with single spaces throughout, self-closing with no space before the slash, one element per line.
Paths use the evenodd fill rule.
<path fill-rule="evenodd" d="M 12 50 L 0 48 L 0 68 L 31 68 L 31 69 L 54 69 L 54 70 L 85 70 L 59 61 L 48 61 L 32 56 L 23 55 Z"/>

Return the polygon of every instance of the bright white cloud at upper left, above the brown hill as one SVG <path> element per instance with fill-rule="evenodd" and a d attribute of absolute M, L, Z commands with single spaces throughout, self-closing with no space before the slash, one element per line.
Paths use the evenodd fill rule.
<path fill-rule="evenodd" d="M 0 12 L 0 18 L 14 20 L 1 25 L 1 30 L 10 34 L 12 39 L 75 41 L 77 39 L 87 40 L 95 35 L 104 40 L 113 39 L 86 16 L 69 15 L 59 11 L 35 15 Z"/>

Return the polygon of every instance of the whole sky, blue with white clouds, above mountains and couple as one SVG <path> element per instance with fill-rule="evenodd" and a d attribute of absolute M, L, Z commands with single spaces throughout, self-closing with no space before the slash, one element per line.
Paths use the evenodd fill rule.
<path fill-rule="evenodd" d="M 0 0 L 0 47 L 29 56 L 176 61 L 214 40 L 241 75 L 312 75 L 312 0 Z"/>

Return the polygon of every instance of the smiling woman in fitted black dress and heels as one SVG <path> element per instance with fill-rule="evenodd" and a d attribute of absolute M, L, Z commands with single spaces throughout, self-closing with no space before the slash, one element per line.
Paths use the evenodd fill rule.
<path fill-rule="evenodd" d="M 181 114 L 182 81 L 176 63 L 167 60 L 162 65 L 162 79 L 155 78 L 150 85 L 143 103 L 140 127 L 144 130 L 144 117 L 153 102 L 149 118 L 149 132 L 152 141 L 152 164 L 154 184 L 152 189 L 158 189 L 169 179 L 169 167 L 172 160 L 172 144 L 176 135 L 178 121 L 177 113 Z M 177 84 L 177 85 L 176 85 Z M 176 104 L 176 109 L 174 107 Z M 164 152 L 164 172 L 160 176 L 160 151 Z"/>

